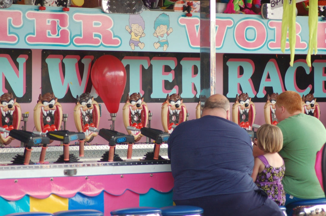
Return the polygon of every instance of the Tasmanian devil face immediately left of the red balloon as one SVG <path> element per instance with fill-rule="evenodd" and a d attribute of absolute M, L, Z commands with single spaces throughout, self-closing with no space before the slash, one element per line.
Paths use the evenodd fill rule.
<path fill-rule="evenodd" d="M 100 121 L 100 109 L 98 103 L 89 92 L 77 95 L 77 102 L 74 108 L 74 120 L 77 131 L 85 133 L 85 141 L 91 142 L 97 135 L 96 132 L 89 131 L 89 127 L 98 127 Z"/>

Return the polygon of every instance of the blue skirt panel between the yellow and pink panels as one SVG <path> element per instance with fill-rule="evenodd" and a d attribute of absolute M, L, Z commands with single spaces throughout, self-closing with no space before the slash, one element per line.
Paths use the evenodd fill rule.
<path fill-rule="evenodd" d="M 77 193 L 74 197 L 69 198 L 68 209 L 94 209 L 104 212 L 104 192 L 102 191 L 95 197 L 89 197 L 81 193 Z"/>

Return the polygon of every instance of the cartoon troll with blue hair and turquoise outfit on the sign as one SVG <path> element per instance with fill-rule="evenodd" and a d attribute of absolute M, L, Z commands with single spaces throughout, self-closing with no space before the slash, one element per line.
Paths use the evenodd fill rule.
<path fill-rule="evenodd" d="M 158 38 L 158 42 L 154 43 L 155 49 L 163 46 L 163 51 L 166 51 L 166 49 L 168 48 L 169 43 L 167 37 L 173 31 L 173 29 L 169 27 L 169 15 L 165 13 L 160 14 L 154 21 L 155 32 L 153 33 L 153 35 Z"/>

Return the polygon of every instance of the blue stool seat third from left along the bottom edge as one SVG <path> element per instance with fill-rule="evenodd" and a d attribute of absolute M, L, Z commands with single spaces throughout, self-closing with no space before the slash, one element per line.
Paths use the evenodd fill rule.
<path fill-rule="evenodd" d="M 161 210 L 158 208 L 152 207 L 136 207 L 136 208 L 126 208 L 126 209 L 117 209 L 111 211 L 111 215 L 113 216 L 128 216 L 128 215 L 151 215 L 151 216 L 162 216 Z"/>

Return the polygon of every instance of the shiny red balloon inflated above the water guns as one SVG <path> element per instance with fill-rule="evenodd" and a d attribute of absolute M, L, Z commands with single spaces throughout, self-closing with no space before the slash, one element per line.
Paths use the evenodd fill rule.
<path fill-rule="evenodd" d="M 122 62 L 111 55 L 99 57 L 92 66 L 91 79 L 108 111 L 117 113 L 127 81 Z"/>

